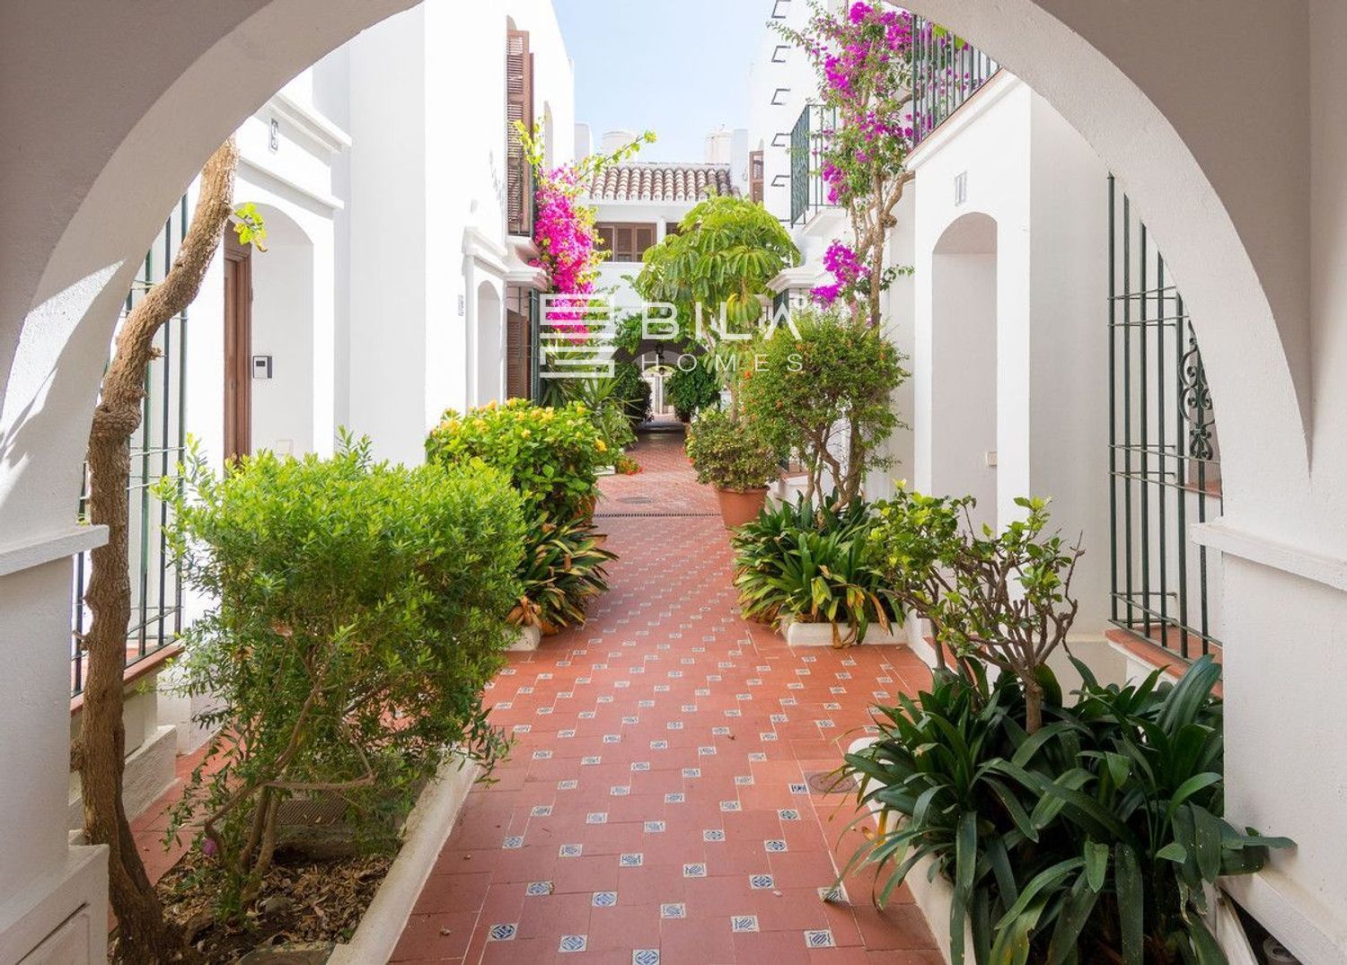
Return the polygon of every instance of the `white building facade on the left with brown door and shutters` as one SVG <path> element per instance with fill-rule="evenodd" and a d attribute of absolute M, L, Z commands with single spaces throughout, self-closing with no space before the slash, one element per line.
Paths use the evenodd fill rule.
<path fill-rule="evenodd" d="M 445 409 L 524 394 L 531 292 L 544 276 L 528 264 L 531 180 L 516 117 L 548 132 L 551 164 L 570 160 L 571 63 L 550 0 L 399 13 L 248 117 L 236 132 L 234 206 L 263 218 L 264 249 L 226 230 L 197 300 L 160 335 L 133 443 L 145 482 L 174 470 L 187 439 L 222 466 L 260 450 L 330 455 L 341 427 L 369 435 L 379 458 L 418 463 Z M 193 183 L 151 248 L 145 280 L 162 277 L 195 194 Z M 520 361 L 524 378 L 512 385 Z M 176 631 L 207 602 L 180 587 L 158 503 L 136 483 L 143 532 L 132 540 L 124 715 L 132 817 L 171 786 L 175 754 L 206 738 L 191 720 L 202 700 L 164 686 L 171 669 L 155 684 Z M 75 630 L 89 619 L 86 572 L 81 559 Z M 74 736 L 77 649 L 71 659 Z M 82 821 L 71 773 L 69 826 Z"/>

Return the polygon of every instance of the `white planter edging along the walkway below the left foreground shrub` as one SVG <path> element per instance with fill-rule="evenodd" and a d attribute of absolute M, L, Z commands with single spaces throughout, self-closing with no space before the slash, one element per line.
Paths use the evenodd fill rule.
<path fill-rule="evenodd" d="M 416 806 L 403 828 L 403 847 L 393 859 L 393 867 L 374 892 L 374 900 L 349 942 L 333 949 L 329 965 L 368 965 L 385 962 L 403 937 L 407 918 L 420 898 L 430 869 L 435 865 L 449 832 L 454 829 L 463 809 L 467 791 L 477 781 L 477 764 L 450 758 L 422 791 Z"/>

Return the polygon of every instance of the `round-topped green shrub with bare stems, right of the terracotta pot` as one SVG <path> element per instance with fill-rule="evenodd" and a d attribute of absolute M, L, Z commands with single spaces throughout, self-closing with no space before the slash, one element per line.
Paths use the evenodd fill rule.
<path fill-rule="evenodd" d="M 880 332 L 836 314 L 797 312 L 787 326 L 758 332 L 735 384 L 745 415 L 810 472 L 810 495 L 861 494 L 866 472 L 886 468 L 884 443 L 901 425 L 890 394 L 908 373 Z M 839 459 L 834 452 L 845 452 Z"/>

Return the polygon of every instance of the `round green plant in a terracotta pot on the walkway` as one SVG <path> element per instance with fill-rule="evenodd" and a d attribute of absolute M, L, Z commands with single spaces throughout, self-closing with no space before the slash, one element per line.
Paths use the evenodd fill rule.
<path fill-rule="evenodd" d="M 687 456 L 696 468 L 696 480 L 715 487 L 726 529 L 757 517 L 768 482 L 781 471 L 777 451 L 754 423 L 719 409 L 706 409 L 692 423 Z"/>

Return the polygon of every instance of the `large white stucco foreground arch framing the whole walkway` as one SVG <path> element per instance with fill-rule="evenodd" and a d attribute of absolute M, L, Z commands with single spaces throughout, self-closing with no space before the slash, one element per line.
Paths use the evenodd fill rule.
<path fill-rule="evenodd" d="M 0 241 L 0 650 L 22 655 L 0 678 L 0 773 L 7 778 L 0 782 L 0 908 L 20 911 L 0 921 L 0 957 L 23 957 L 32 948 L 24 942 L 35 943 L 63 921 L 75 907 L 71 900 L 92 895 L 88 882 L 96 882 L 89 878 L 96 872 L 70 863 L 59 820 L 66 775 L 54 766 L 65 760 L 69 740 L 65 560 L 97 538 L 73 526 L 78 467 L 136 258 L 163 211 L 244 117 L 304 66 L 411 5 L 16 0 L 0 9 L 0 206 L 23 226 Z M 1332 487 L 1315 494 L 1308 478 L 1311 112 L 1288 109 L 1309 101 L 1311 71 L 1300 65 L 1313 35 L 1312 11 L 1323 13 L 1327 4 L 907 5 L 983 47 L 1040 92 L 1146 211 L 1202 326 L 1234 524 L 1254 537 L 1336 546 L 1347 529 L 1342 495 Z M 1285 69 L 1249 67 L 1266 63 Z M 1251 118 L 1258 136 L 1250 136 Z M 1344 462 L 1340 451 L 1334 455 Z M 1315 456 L 1317 468 L 1321 452 Z M 1315 565 L 1290 560 L 1285 568 Z M 1233 596 L 1242 606 L 1266 592 L 1259 573 L 1237 575 Z M 1329 619 L 1343 612 L 1339 596 L 1328 599 L 1332 591 L 1316 584 L 1323 599 L 1312 598 L 1299 577 L 1277 579 L 1278 592 L 1299 595 L 1319 614 L 1303 619 L 1305 637 L 1340 634 L 1342 620 Z M 1331 575 L 1313 579 L 1327 587 L 1344 583 Z M 1246 622 L 1245 642 L 1285 633 L 1272 615 Z M 1294 684 L 1269 676 L 1276 666 L 1241 659 L 1227 665 L 1233 711 L 1249 712 L 1258 689 Z M 1342 664 L 1329 649 L 1317 678 L 1334 680 Z M 1304 690 L 1297 704 L 1311 707 L 1324 696 Z M 1242 748 L 1237 767 L 1276 758 L 1278 744 L 1268 736 L 1278 731 L 1274 723 L 1265 719 L 1259 729 L 1254 715 L 1231 735 Z M 1312 734 L 1286 723 L 1280 739 L 1304 743 Z M 1317 771 L 1319 783 L 1301 795 L 1304 813 L 1331 812 L 1347 760 L 1325 754 Z M 1293 771 L 1268 775 L 1273 786 L 1294 779 Z M 1242 790 L 1237 809 L 1303 844 L 1316 833 L 1329 844 L 1321 828 L 1331 822 L 1319 830 L 1311 818 L 1288 826 L 1294 814 L 1265 803 Z M 1335 855 L 1340 851 L 1328 847 L 1297 859 L 1296 883 L 1340 914 L 1347 904 L 1336 887 L 1342 865 L 1335 871 Z M 74 876 L 85 884 L 63 891 L 62 882 Z M 30 895 L 32 888 L 38 894 Z M 93 917 L 98 921 L 97 908 Z"/>

